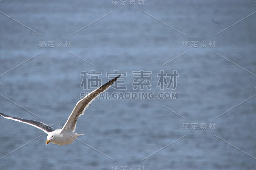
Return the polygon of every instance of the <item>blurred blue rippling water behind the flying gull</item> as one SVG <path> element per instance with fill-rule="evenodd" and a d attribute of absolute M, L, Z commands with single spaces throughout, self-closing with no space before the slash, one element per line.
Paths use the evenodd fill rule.
<path fill-rule="evenodd" d="M 85 134 L 81 141 L 114 160 L 78 140 L 46 146 L 43 131 L 1 117 L 1 169 L 255 169 L 256 98 L 249 99 L 256 94 L 255 1 L 130 1 L 124 6 L 124 1 L 117 5 L 112 0 L 1 0 L 0 112 L 64 124 L 81 92 L 95 89 L 80 87 L 83 71 L 102 72 L 101 84 L 108 81 L 106 72 L 126 72 L 121 86 L 127 90 L 110 88 L 109 94 L 178 92 L 178 99 L 92 102 L 76 132 Z M 46 41 L 46 48 L 39 41 Z M 53 48 L 48 41 L 54 41 Z M 57 41 L 63 41 L 63 48 L 56 47 Z M 65 47 L 65 41 L 72 46 Z M 192 41 L 198 42 L 197 48 L 191 47 Z M 201 41 L 206 47 L 200 47 Z M 152 71 L 151 89 L 133 90 L 132 71 L 140 70 Z M 177 70 L 175 90 L 157 87 L 160 70 Z M 184 123 L 190 128 L 184 129 Z M 191 129 L 192 123 L 198 124 L 197 130 Z M 200 123 L 207 124 L 205 130 Z M 215 129 L 209 129 L 210 123 Z"/>

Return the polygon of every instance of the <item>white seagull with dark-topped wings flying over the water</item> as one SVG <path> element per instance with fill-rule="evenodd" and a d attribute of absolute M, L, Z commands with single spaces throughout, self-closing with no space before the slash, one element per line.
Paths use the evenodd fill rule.
<path fill-rule="evenodd" d="M 31 126 L 38 128 L 40 130 L 43 130 L 48 135 L 47 140 L 45 142 L 46 145 L 48 145 L 50 142 L 52 144 L 58 144 L 58 145 L 71 144 L 77 137 L 79 137 L 80 135 L 84 135 L 84 134 L 75 133 L 78 117 L 80 117 L 81 115 L 84 115 L 85 109 L 91 104 L 91 102 L 100 93 L 107 90 L 116 81 L 116 79 L 119 78 L 120 76 L 121 76 L 121 74 L 119 76 L 117 76 L 116 78 L 113 78 L 112 80 L 108 81 L 104 85 L 100 86 L 96 90 L 90 92 L 83 99 L 78 101 L 62 129 L 53 130 L 51 127 L 47 126 L 46 124 L 44 124 L 42 122 L 37 122 L 35 120 L 28 120 L 28 119 L 22 119 L 19 117 L 12 117 L 12 116 L 5 115 L 3 113 L 0 113 L 0 115 L 6 119 L 11 119 L 11 120 L 18 121 L 21 123 L 26 123 L 26 124 L 29 124 Z"/>

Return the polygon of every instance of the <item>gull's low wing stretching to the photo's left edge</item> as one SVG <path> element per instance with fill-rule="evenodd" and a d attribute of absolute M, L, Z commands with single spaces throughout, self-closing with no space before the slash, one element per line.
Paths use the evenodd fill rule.
<path fill-rule="evenodd" d="M 54 131 L 53 129 L 51 129 L 51 127 L 47 126 L 46 124 L 42 123 L 42 122 L 37 122 L 37 121 L 34 121 L 34 120 L 28 120 L 28 119 L 22 119 L 22 118 L 19 118 L 19 117 L 12 117 L 12 116 L 8 116 L 8 115 L 5 115 L 3 113 L 0 113 L 0 115 L 6 119 L 11 119 L 11 120 L 14 120 L 14 121 L 18 121 L 18 122 L 21 122 L 21 123 L 26 123 L 26 124 L 29 124 L 31 126 L 34 126 L 40 130 L 43 130 L 45 133 L 50 133 L 52 131 Z"/>

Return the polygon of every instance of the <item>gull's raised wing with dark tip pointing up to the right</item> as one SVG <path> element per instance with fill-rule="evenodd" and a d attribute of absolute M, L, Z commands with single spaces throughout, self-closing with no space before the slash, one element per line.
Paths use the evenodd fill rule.
<path fill-rule="evenodd" d="M 116 78 L 113 78 L 112 80 L 108 81 L 108 83 L 105 83 L 104 85 L 100 86 L 98 89 L 90 92 L 88 95 L 86 95 L 83 99 L 81 99 L 80 101 L 78 101 L 76 103 L 75 108 L 73 109 L 72 113 L 70 114 L 70 116 L 68 117 L 67 122 L 65 123 L 65 125 L 63 126 L 62 130 L 65 131 L 75 131 L 76 129 L 76 123 L 77 123 L 77 119 L 79 116 L 84 115 L 84 111 L 85 109 L 90 105 L 90 103 L 102 92 L 104 92 L 105 90 L 107 90 L 115 81 L 117 78 L 119 78 L 121 76 L 121 74 L 119 76 L 117 76 Z"/>

